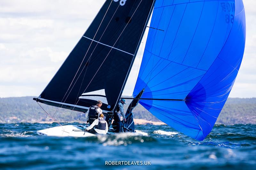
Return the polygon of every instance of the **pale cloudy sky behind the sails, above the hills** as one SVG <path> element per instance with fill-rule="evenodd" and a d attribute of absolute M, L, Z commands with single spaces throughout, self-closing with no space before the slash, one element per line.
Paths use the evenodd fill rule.
<path fill-rule="evenodd" d="M 39 96 L 104 0 L 0 0 L 0 97 Z M 256 1 L 244 0 L 244 58 L 229 97 L 256 97 Z M 149 24 L 148 24 L 149 25 Z M 145 33 L 123 95 L 132 95 Z"/>

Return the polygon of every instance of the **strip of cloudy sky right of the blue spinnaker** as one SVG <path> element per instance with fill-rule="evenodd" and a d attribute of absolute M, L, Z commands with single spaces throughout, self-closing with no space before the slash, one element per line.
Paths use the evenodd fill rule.
<path fill-rule="evenodd" d="M 246 41 L 243 61 L 229 97 L 256 97 L 256 1 L 245 0 Z"/>

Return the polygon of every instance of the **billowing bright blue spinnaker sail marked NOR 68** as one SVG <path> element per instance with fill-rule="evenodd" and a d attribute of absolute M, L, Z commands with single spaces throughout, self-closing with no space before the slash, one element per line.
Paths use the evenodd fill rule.
<path fill-rule="evenodd" d="M 133 91 L 158 119 L 197 140 L 212 130 L 244 54 L 240 0 L 156 0 Z M 164 99 L 181 99 L 171 101 Z"/>

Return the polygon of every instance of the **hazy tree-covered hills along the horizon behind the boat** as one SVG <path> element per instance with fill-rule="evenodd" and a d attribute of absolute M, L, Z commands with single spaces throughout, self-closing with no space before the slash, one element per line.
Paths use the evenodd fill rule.
<path fill-rule="evenodd" d="M 130 102 L 131 100 L 127 100 L 125 109 Z M 40 105 L 50 115 L 54 115 L 57 110 L 57 107 L 48 106 L 42 103 L 40 103 Z M 68 118 L 69 121 L 74 121 L 79 118 L 81 122 L 85 121 L 85 115 L 83 113 L 73 111 L 71 114 L 71 110 L 61 108 L 57 110 L 54 118 L 58 122 L 67 122 Z M 140 104 L 134 110 L 134 118 L 159 121 Z M 50 120 L 51 118 L 31 96 L 0 98 L 0 123 L 49 122 Z M 256 98 L 228 98 L 216 123 L 256 124 Z"/>

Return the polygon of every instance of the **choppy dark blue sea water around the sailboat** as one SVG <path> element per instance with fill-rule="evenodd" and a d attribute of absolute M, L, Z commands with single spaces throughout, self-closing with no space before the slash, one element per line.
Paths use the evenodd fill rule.
<path fill-rule="evenodd" d="M 196 141 L 167 125 L 137 125 L 136 129 L 147 132 L 148 137 L 118 134 L 76 138 L 36 134 L 36 130 L 49 126 L 0 124 L 0 169 L 256 167 L 255 124 L 215 125 L 203 141 Z"/>

